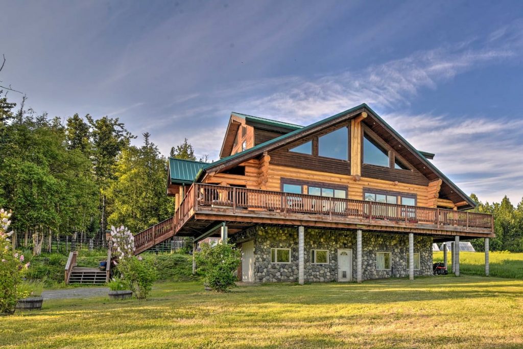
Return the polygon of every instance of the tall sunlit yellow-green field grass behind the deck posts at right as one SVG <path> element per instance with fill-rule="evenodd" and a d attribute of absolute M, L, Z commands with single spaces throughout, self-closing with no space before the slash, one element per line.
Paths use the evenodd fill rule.
<path fill-rule="evenodd" d="M 434 252 L 434 262 L 443 262 L 443 252 Z M 448 269 L 451 269 L 448 253 Z M 468 275 L 485 275 L 485 253 L 460 252 L 460 273 Z M 491 252 L 490 275 L 512 279 L 523 279 L 523 253 Z"/>

